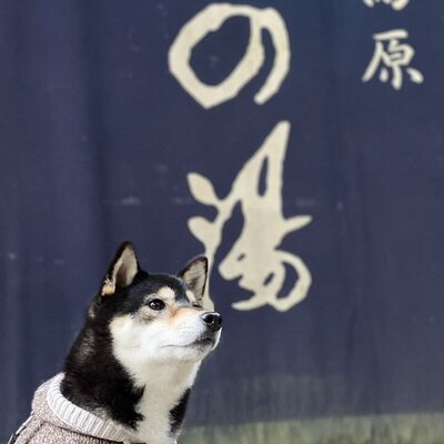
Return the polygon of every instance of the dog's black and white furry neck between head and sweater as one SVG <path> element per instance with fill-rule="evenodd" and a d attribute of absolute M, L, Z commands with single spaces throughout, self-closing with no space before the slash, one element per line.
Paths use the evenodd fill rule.
<path fill-rule="evenodd" d="M 110 342 L 84 329 L 64 364 L 62 394 L 72 403 L 128 427 L 138 441 L 173 444 L 179 435 L 200 362 L 150 363 L 127 369 Z"/>

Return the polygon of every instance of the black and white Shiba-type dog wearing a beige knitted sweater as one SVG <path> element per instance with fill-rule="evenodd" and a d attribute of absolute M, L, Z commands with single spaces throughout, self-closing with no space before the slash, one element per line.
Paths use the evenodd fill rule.
<path fill-rule="evenodd" d="M 173 444 L 222 317 L 201 305 L 208 261 L 143 271 L 123 243 L 88 306 L 63 372 L 36 392 L 16 444 Z"/>

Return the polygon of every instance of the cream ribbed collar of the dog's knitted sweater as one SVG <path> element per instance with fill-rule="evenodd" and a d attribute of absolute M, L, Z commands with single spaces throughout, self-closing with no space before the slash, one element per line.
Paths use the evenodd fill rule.
<path fill-rule="evenodd" d="M 47 402 L 53 414 L 69 428 L 102 440 L 135 442 L 123 426 L 111 420 L 103 420 L 67 400 L 60 391 L 62 380 L 63 373 L 59 373 L 49 381 Z"/>

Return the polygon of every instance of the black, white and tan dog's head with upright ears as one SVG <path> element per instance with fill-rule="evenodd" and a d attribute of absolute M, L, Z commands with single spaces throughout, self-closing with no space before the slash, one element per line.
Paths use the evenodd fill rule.
<path fill-rule="evenodd" d="M 124 243 L 89 307 L 89 324 L 109 329 L 114 354 L 130 371 L 147 364 L 199 362 L 219 343 L 222 317 L 201 305 L 208 261 L 176 275 L 151 274 Z"/>

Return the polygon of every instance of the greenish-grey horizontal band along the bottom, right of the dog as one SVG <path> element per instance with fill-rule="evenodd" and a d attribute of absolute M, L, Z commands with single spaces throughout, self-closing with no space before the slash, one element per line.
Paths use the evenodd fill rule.
<path fill-rule="evenodd" d="M 444 444 L 444 414 L 326 417 L 185 427 L 180 444 Z"/>

